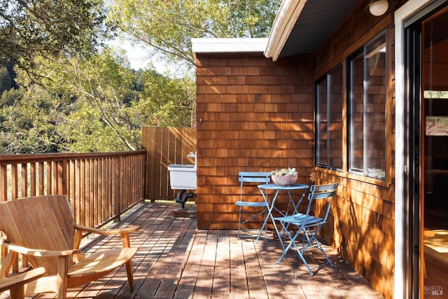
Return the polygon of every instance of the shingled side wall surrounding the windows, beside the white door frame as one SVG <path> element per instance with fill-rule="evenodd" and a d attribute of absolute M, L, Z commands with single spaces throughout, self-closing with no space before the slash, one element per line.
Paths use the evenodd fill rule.
<path fill-rule="evenodd" d="M 367 14 L 364 8 L 364 5 L 358 6 L 316 50 L 314 80 L 341 62 L 344 64 L 347 57 L 367 41 L 380 32 L 386 32 L 388 46 L 388 61 L 384 65 L 387 74 L 386 180 L 349 174 L 344 158 L 342 172 L 316 167 L 316 182 L 339 182 L 339 195 L 341 195 L 334 201 L 330 225 L 323 231 L 324 239 L 338 249 L 350 265 L 370 281 L 385 298 L 393 298 L 395 265 L 393 16 L 389 14 L 375 18 Z M 344 144 L 347 142 L 344 141 Z M 346 151 L 345 146 L 344 152 Z"/>

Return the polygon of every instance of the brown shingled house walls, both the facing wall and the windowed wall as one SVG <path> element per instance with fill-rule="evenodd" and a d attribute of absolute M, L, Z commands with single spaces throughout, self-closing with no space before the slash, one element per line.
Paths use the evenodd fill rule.
<path fill-rule="evenodd" d="M 272 62 L 261 54 L 197 54 L 197 223 L 203 229 L 237 228 L 239 171 L 297 167 L 298 182 L 308 184 L 313 172 L 316 183 L 339 183 L 323 238 L 385 298 L 392 298 L 393 16 L 374 18 L 365 5 L 361 1 L 313 56 Z M 389 53 L 384 62 L 386 180 L 347 172 L 346 136 L 343 171 L 314 168 L 314 83 L 380 32 L 386 32 Z M 244 192 L 260 200 L 258 190 Z"/>

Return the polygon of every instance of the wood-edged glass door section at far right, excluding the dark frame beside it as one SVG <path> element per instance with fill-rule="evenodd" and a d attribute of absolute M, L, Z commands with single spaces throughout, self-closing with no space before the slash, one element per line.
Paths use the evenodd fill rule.
<path fill-rule="evenodd" d="M 448 298 L 448 8 L 421 22 L 421 276 L 424 298 Z"/>

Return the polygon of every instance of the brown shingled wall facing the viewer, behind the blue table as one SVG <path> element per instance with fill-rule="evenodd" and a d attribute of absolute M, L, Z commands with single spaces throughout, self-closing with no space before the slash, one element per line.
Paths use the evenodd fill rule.
<path fill-rule="evenodd" d="M 197 225 L 237 229 L 238 173 L 314 165 L 312 58 L 197 54 Z M 244 200 L 261 200 L 256 186 Z M 286 199 L 281 199 L 281 201 Z"/>

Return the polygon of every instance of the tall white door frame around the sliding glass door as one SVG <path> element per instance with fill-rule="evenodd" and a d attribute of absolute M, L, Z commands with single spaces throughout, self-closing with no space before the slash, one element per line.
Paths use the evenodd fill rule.
<path fill-rule="evenodd" d="M 394 298 L 413 298 L 419 293 L 420 280 L 419 268 L 412 269 L 416 263 L 416 256 L 423 250 L 416 246 L 420 244 L 420 231 L 414 231 L 415 208 L 412 206 L 414 194 L 412 184 L 414 177 L 419 174 L 409 175 L 413 171 L 412 159 L 414 148 L 409 144 L 413 139 L 410 128 L 407 126 L 409 109 L 413 112 L 419 107 L 410 106 L 413 103 L 407 98 L 409 87 L 407 86 L 405 58 L 407 45 L 405 43 L 406 27 L 412 24 L 421 11 L 429 6 L 439 6 L 444 1 L 437 0 L 409 0 L 395 11 L 395 274 L 394 274 Z M 435 8 L 435 7 L 434 7 Z M 431 8 L 432 9 L 432 8 Z M 416 20 L 414 20 L 416 21 Z M 409 136 L 410 135 L 410 136 Z M 420 137 L 421 138 L 421 137 Z M 418 161 L 417 161 L 418 162 Z M 419 165 L 417 165 L 419 166 Z M 420 183 L 421 186 L 421 183 Z M 419 202 L 416 204 L 420 204 Z M 418 286 L 412 281 L 419 281 Z"/>

